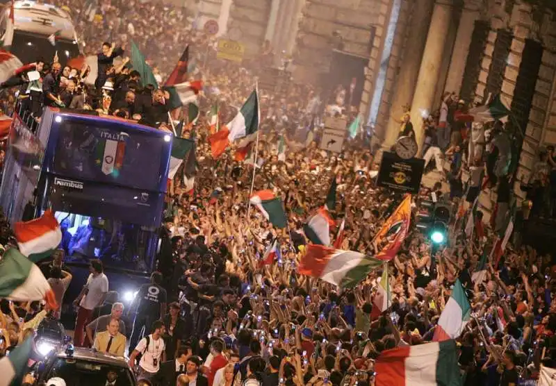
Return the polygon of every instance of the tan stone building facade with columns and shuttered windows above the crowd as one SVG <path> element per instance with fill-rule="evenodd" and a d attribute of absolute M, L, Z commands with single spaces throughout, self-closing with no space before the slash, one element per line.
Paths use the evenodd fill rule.
<path fill-rule="evenodd" d="M 333 49 L 368 58 L 359 111 L 383 149 L 395 141 L 408 108 L 421 141 L 422 116 L 439 108 L 444 92 L 466 102 L 500 94 L 512 110 L 512 124 L 522 133 L 514 180 L 519 197 L 525 196 L 519 182 L 528 180 L 539 149 L 556 144 L 556 1 L 200 3 L 225 24 L 221 33 L 234 32 L 247 52 L 259 52 L 268 40 L 277 65 L 291 56 L 295 81 L 318 83 L 329 72 Z"/>

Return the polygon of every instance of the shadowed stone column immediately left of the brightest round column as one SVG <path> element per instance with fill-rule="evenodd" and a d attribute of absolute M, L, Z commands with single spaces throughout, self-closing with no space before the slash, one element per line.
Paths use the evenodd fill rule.
<path fill-rule="evenodd" d="M 395 119 L 400 119 L 403 114 L 402 106 L 410 105 L 413 99 L 433 6 L 434 0 L 419 0 L 411 10 L 413 16 L 411 16 L 409 33 L 400 62 L 400 72 L 395 83 L 390 110 L 391 115 L 384 133 L 381 133 L 382 135 L 379 134 L 379 137 L 384 138 L 383 149 L 390 149 L 396 138 L 398 138 L 400 124 Z"/>

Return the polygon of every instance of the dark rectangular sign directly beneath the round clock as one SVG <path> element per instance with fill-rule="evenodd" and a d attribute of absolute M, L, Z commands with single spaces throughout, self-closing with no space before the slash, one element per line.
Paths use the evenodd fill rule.
<path fill-rule="evenodd" d="M 380 162 L 377 186 L 417 194 L 423 178 L 423 169 L 425 169 L 425 160 L 420 158 L 403 160 L 395 153 L 385 151 Z"/>

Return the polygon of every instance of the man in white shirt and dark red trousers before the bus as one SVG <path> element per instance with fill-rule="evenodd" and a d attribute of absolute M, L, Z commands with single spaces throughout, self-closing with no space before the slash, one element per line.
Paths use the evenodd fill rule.
<path fill-rule="evenodd" d="M 108 278 L 103 273 L 102 262 L 100 260 L 91 260 L 90 275 L 87 283 L 83 286 L 83 290 L 74 301 L 74 306 L 79 307 L 77 310 L 77 319 L 75 321 L 74 344 L 75 346 L 83 346 L 83 337 L 85 336 L 85 326 L 92 319 L 92 311 L 104 303 L 106 294 L 108 294 Z"/>

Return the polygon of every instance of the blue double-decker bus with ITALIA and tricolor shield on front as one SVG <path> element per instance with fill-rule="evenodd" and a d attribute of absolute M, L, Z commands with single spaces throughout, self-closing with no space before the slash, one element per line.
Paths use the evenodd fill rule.
<path fill-rule="evenodd" d="M 45 108 L 38 126 L 24 118 L 15 114 L 8 138 L 0 190 L 6 217 L 13 224 L 24 212 L 38 217 L 51 208 L 67 264 L 86 268 L 97 258 L 108 273 L 148 276 L 172 135 L 86 111 Z"/>

